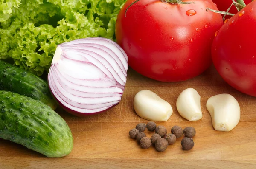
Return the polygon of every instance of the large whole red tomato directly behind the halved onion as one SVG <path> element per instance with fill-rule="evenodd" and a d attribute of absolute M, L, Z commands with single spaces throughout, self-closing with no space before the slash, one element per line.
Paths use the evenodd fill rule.
<path fill-rule="evenodd" d="M 116 20 L 116 40 L 138 73 L 163 82 L 198 76 L 211 64 L 214 34 L 223 25 L 212 0 L 184 0 L 175 5 L 160 0 L 140 0 Z"/>

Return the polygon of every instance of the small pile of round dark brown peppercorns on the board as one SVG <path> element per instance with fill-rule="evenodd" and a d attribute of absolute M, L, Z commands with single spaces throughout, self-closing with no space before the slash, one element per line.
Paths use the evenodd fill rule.
<path fill-rule="evenodd" d="M 151 138 L 147 137 L 144 131 L 146 128 L 149 131 L 155 131 Z M 180 138 L 184 134 L 184 138 L 181 140 L 181 146 L 183 150 L 190 150 L 194 146 L 193 137 L 195 136 L 194 127 L 186 127 L 184 130 L 179 126 L 173 126 L 171 133 L 167 134 L 166 127 L 150 121 L 147 124 L 139 123 L 134 129 L 129 131 L 131 138 L 135 138 L 141 148 L 148 149 L 151 145 L 154 145 L 157 151 L 163 152 L 167 149 L 168 145 L 175 143 L 177 138 Z"/>

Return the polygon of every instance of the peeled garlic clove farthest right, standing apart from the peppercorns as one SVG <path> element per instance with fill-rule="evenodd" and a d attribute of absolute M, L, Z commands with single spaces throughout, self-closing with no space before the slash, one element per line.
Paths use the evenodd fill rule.
<path fill-rule="evenodd" d="M 215 130 L 229 132 L 239 123 L 240 107 L 230 94 L 212 96 L 206 103 Z"/>

